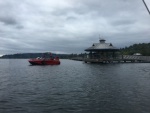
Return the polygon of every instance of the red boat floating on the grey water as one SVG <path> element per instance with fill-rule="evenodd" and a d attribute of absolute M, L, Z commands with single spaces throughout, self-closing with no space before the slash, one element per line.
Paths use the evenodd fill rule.
<path fill-rule="evenodd" d="M 28 61 L 32 65 L 59 65 L 60 64 L 59 58 L 58 57 L 53 58 L 51 56 L 51 54 L 50 54 L 50 58 L 37 57 L 37 58 L 34 58 L 34 59 L 29 59 Z"/>

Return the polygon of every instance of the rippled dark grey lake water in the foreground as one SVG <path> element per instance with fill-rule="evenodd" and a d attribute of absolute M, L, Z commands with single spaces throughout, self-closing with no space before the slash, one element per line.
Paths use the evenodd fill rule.
<path fill-rule="evenodd" d="M 150 63 L 1 59 L 0 113 L 150 113 Z"/>

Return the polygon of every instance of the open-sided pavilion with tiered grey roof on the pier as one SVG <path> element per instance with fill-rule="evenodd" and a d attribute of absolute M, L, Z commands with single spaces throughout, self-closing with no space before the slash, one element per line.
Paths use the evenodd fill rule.
<path fill-rule="evenodd" d="M 119 49 L 114 47 L 112 43 L 105 43 L 105 41 L 105 39 L 100 39 L 99 43 L 94 43 L 91 47 L 85 49 L 85 51 L 89 52 L 85 62 L 110 62 L 116 59 L 116 53 Z"/>

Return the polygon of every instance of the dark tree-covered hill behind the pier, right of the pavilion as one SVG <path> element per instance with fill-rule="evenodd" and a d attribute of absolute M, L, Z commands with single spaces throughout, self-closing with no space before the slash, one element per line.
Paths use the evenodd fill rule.
<path fill-rule="evenodd" d="M 143 56 L 150 56 L 150 43 L 134 44 L 129 47 L 121 48 L 121 54 L 133 55 L 134 53 L 141 53 Z"/>

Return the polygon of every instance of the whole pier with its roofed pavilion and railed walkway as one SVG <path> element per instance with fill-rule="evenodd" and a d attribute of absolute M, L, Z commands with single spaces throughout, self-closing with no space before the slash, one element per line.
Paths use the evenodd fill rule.
<path fill-rule="evenodd" d="M 112 43 L 105 43 L 105 41 L 100 39 L 99 43 L 94 43 L 85 49 L 86 52 L 89 52 L 88 54 L 84 57 L 74 57 L 72 60 L 85 63 L 150 63 L 150 56 L 143 56 L 140 53 L 122 55 Z"/>

